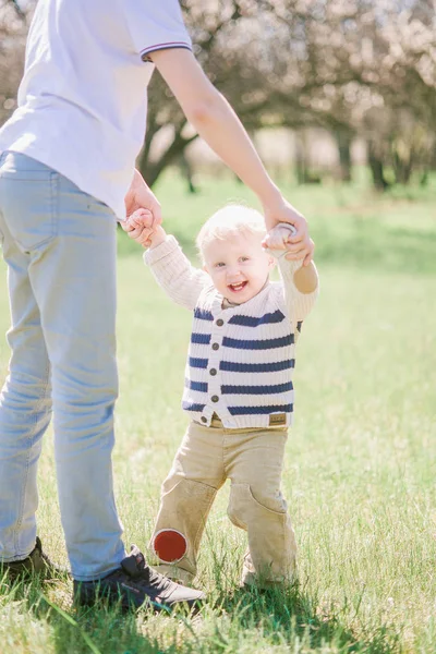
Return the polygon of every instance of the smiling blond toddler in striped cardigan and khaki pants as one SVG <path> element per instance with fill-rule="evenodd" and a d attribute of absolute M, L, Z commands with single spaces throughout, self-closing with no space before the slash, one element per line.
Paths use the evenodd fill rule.
<path fill-rule="evenodd" d="M 141 210 L 133 226 L 150 221 Z M 245 530 L 242 583 L 292 582 L 295 538 L 280 491 L 292 422 L 294 347 L 318 277 L 286 258 L 292 228 L 268 234 L 261 214 L 227 206 L 203 226 L 204 269 L 157 227 L 144 254 L 158 283 L 193 312 L 182 407 L 191 423 L 162 485 L 152 537 L 157 569 L 190 582 L 217 491 L 231 480 L 228 514 Z M 281 281 L 269 280 L 278 261 Z"/>

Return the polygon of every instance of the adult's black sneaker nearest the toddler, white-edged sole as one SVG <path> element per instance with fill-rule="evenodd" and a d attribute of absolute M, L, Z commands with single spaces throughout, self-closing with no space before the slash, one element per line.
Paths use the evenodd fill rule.
<path fill-rule="evenodd" d="M 122 608 L 153 606 L 168 613 L 177 605 L 199 608 L 206 598 L 202 591 L 187 589 L 159 574 L 145 562 L 144 555 L 132 545 L 131 553 L 121 561 L 121 568 L 96 581 L 74 580 L 74 601 L 92 605 L 96 600 L 120 603 Z"/>

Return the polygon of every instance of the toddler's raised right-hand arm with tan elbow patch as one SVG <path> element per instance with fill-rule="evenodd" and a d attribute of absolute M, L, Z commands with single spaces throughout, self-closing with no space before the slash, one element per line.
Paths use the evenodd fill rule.
<path fill-rule="evenodd" d="M 296 338 L 301 323 L 311 312 L 318 295 L 319 283 L 318 272 L 313 262 L 308 266 L 302 266 L 301 259 L 286 258 L 288 254 L 286 247 L 290 237 L 292 237 L 292 226 L 281 223 L 268 232 L 264 243 L 278 261 L 284 288 L 284 302 L 291 320 L 295 324 Z"/>

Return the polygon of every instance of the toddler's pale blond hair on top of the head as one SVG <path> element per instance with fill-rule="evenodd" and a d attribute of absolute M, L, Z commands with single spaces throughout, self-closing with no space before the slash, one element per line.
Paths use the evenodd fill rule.
<path fill-rule="evenodd" d="M 204 250 L 211 241 L 215 239 L 225 241 L 229 237 L 235 237 L 241 233 L 257 234 L 259 238 L 265 237 L 265 219 L 256 209 L 243 205 L 230 204 L 216 211 L 206 220 L 195 242 L 204 259 Z"/>

